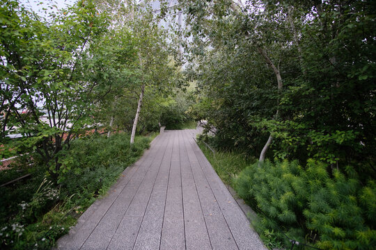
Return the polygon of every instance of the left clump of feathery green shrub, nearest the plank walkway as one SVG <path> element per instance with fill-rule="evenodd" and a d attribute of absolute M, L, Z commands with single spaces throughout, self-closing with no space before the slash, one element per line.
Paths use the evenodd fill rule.
<path fill-rule="evenodd" d="M 265 229 L 274 231 L 278 241 L 288 245 L 280 231 L 283 228 L 288 237 L 304 241 L 305 231 L 301 226 L 306 201 L 306 188 L 301 178 L 301 167 L 297 162 L 265 161 L 247 167 L 235 181 L 235 188 L 253 208 L 262 211 L 260 220 L 254 225 L 264 235 Z M 287 241 L 286 241 L 287 240 Z"/>

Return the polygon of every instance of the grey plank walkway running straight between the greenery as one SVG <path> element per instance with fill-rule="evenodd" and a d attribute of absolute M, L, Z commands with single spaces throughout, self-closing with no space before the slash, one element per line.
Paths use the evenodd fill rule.
<path fill-rule="evenodd" d="M 196 133 L 158 135 L 57 249 L 265 249 Z"/>

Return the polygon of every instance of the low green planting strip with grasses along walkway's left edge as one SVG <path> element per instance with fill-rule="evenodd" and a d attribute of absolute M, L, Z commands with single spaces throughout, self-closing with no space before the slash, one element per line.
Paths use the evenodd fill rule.
<path fill-rule="evenodd" d="M 0 185 L 31 173 L 31 178 L 0 188 L 0 249 L 51 249 L 156 135 L 136 137 L 132 147 L 125 133 L 75 140 L 61 151 L 57 180 L 42 164 L 0 172 Z"/>

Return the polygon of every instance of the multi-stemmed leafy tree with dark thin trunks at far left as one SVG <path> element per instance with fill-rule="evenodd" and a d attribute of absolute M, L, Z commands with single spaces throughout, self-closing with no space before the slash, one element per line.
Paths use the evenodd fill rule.
<path fill-rule="evenodd" d="M 1 143 L 19 153 L 38 151 L 46 163 L 88 124 L 100 99 L 97 82 L 77 69 L 86 67 L 84 49 L 101 38 L 108 22 L 90 2 L 63 11 L 47 22 L 17 1 L 2 1 L 0 8 Z M 7 135 L 17 133 L 22 139 L 13 143 Z"/>

